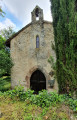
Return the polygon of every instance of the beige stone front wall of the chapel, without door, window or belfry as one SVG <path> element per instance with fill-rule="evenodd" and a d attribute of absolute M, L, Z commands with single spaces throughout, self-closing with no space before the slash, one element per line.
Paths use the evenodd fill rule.
<path fill-rule="evenodd" d="M 40 39 L 39 48 L 36 48 L 37 35 Z M 14 62 L 11 70 L 12 88 L 20 84 L 25 90 L 30 88 L 30 77 L 36 69 L 39 69 L 46 77 L 46 89 L 58 91 L 57 81 L 53 89 L 48 84 L 48 80 L 54 79 L 49 75 L 52 68 L 48 63 L 48 58 L 52 55 L 56 60 L 51 43 L 54 43 L 53 27 L 46 21 L 30 24 L 11 40 L 11 57 Z"/>

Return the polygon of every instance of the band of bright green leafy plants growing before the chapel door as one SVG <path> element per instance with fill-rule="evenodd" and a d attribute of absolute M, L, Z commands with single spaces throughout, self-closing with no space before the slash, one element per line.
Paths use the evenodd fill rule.
<path fill-rule="evenodd" d="M 39 94 L 33 94 L 33 90 L 24 91 L 24 88 L 19 86 L 13 90 L 6 91 L 4 93 L 0 92 L 0 96 L 3 94 L 5 97 L 10 97 L 13 100 L 26 101 L 27 104 L 35 104 L 42 108 L 46 107 L 43 111 L 43 115 L 50 106 L 56 106 L 57 104 L 65 103 L 69 105 L 73 111 L 77 112 L 77 100 L 71 98 L 69 95 L 59 95 L 55 92 L 48 93 L 46 90 L 40 91 Z"/>

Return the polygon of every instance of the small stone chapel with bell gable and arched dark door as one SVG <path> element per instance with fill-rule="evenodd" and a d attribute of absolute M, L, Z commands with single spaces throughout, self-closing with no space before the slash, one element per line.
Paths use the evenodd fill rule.
<path fill-rule="evenodd" d="M 43 19 L 43 10 L 36 6 L 31 12 L 32 21 L 6 41 L 14 66 L 11 69 L 11 86 L 22 85 L 36 93 L 42 89 L 58 91 L 53 69 L 48 59 L 56 60 L 53 26 Z"/>

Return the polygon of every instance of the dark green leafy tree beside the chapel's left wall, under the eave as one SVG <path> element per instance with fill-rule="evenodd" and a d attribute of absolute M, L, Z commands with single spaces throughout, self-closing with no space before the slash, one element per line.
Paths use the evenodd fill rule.
<path fill-rule="evenodd" d="M 5 74 L 10 74 L 10 69 L 13 65 L 10 58 L 10 53 L 5 46 L 5 38 L 0 35 L 0 77 Z"/>

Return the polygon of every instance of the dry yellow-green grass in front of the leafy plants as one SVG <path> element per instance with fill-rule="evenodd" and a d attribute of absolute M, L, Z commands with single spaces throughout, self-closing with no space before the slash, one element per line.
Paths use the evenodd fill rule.
<path fill-rule="evenodd" d="M 0 98 L 0 120 L 70 120 L 73 111 L 64 104 L 41 108 L 35 104 Z M 73 119 L 74 120 L 74 119 Z"/>

